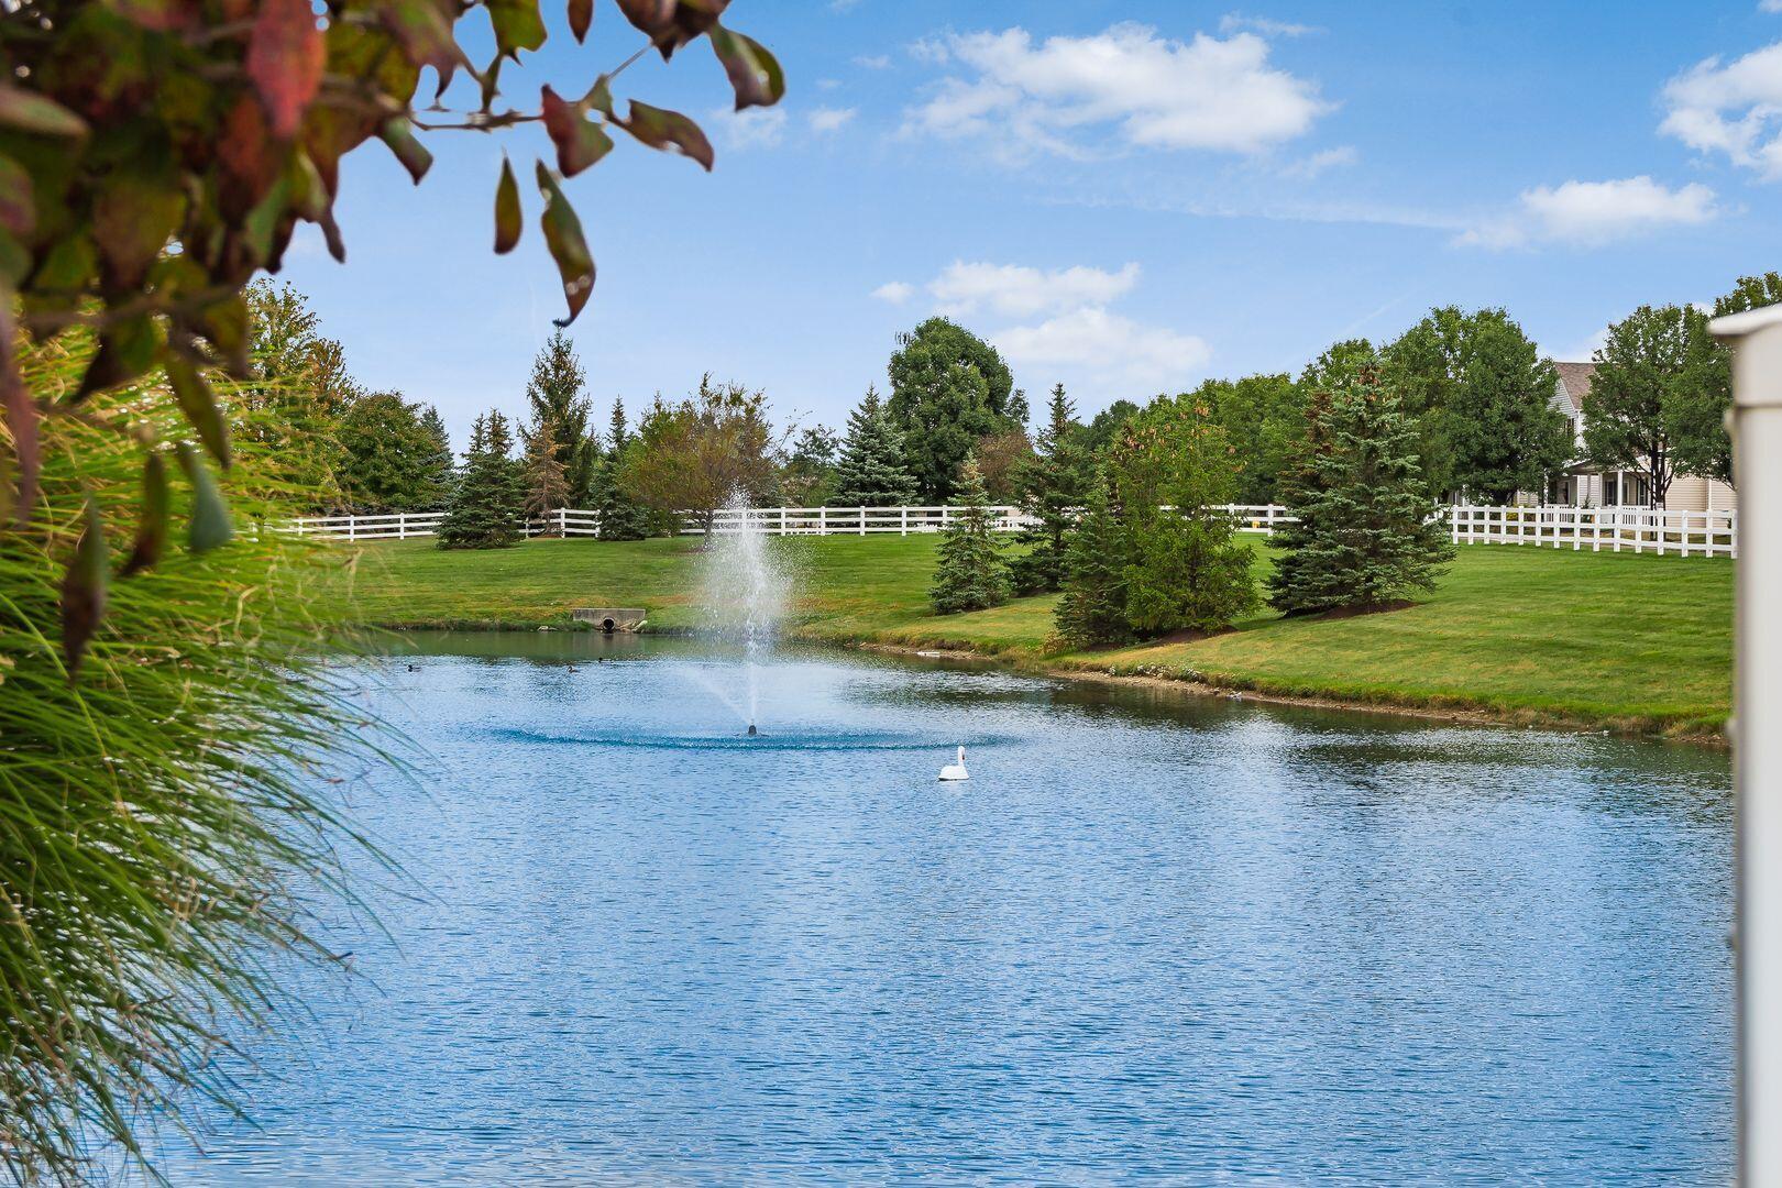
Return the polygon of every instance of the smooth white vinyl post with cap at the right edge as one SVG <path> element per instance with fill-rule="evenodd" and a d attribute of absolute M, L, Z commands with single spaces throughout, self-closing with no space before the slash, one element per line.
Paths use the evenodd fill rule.
<path fill-rule="evenodd" d="M 1782 306 L 1716 317 L 1730 342 L 1732 775 L 1737 821 L 1739 1183 L 1782 1183 Z"/>

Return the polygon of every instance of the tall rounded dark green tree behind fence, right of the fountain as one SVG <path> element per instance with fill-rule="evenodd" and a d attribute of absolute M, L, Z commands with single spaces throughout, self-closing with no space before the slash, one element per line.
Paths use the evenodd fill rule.
<path fill-rule="evenodd" d="M 1014 378 L 996 347 L 944 317 L 898 335 L 889 374 L 886 408 L 903 433 L 903 465 L 928 502 L 953 497 L 960 463 L 980 438 L 1023 427 L 1010 417 Z"/>

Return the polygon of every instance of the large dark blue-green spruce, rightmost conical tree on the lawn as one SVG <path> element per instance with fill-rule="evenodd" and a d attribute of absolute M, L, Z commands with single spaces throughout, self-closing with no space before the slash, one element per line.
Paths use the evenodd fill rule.
<path fill-rule="evenodd" d="M 1269 579 L 1278 609 L 1377 607 L 1435 588 L 1454 547 L 1417 440 L 1415 420 L 1376 370 L 1313 392 L 1306 449 L 1287 483 L 1297 524 L 1278 536 L 1287 556 Z"/>

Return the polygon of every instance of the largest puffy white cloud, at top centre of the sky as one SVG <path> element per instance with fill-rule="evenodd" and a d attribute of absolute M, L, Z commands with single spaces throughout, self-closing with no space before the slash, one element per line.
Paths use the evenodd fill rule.
<path fill-rule="evenodd" d="M 1025 28 L 952 34 L 911 46 L 964 77 L 943 78 L 905 114 L 907 135 L 987 139 L 993 151 L 1087 157 L 1112 125 L 1130 146 L 1260 153 L 1304 135 L 1333 109 L 1317 84 L 1269 66 L 1249 32 L 1173 41 L 1121 23 L 1089 37 L 1035 43 Z"/>

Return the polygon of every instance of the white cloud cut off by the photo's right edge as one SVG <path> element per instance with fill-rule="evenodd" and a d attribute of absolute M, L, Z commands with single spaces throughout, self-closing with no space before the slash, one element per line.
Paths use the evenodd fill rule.
<path fill-rule="evenodd" d="M 1764 11 L 1782 12 L 1782 2 Z M 1659 132 L 1782 180 L 1782 41 L 1732 62 L 1696 62 L 1664 84 L 1663 100 Z"/>

